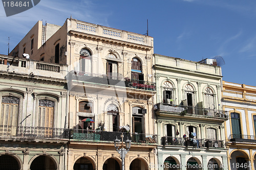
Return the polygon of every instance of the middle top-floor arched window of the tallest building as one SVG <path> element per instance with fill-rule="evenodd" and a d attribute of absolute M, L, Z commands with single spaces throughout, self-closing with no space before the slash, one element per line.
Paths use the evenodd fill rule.
<path fill-rule="evenodd" d="M 109 53 L 108 56 L 106 56 L 106 58 L 110 59 L 110 60 L 106 61 L 106 75 L 110 79 L 117 80 L 117 77 L 118 77 L 118 63 L 116 61 L 111 60 L 111 59 L 116 59 L 117 57 L 114 54 Z"/>

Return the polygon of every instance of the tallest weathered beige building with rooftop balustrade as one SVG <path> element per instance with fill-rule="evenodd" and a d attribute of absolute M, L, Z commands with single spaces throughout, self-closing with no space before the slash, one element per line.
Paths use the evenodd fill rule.
<path fill-rule="evenodd" d="M 62 27 L 38 21 L 10 53 L 69 66 L 67 169 L 119 169 L 113 143 L 120 139 L 119 127 L 124 140 L 132 140 L 125 169 L 155 169 L 150 167 L 157 163 L 153 42 L 70 18 Z"/>

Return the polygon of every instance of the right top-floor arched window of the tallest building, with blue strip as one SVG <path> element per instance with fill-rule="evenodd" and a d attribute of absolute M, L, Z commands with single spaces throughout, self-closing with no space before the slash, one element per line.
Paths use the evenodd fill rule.
<path fill-rule="evenodd" d="M 142 74 L 141 62 L 138 58 L 132 59 L 132 75 L 131 79 L 144 81 L 144 75 Z M 140 83 L 143 84 L 143 83 Z"/>

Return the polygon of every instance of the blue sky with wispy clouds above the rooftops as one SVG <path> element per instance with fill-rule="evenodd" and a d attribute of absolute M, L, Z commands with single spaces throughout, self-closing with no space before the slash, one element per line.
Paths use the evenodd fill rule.
<path fill-rule="evenodd" d="M 256 1 L 41 0 L 6 17 L 0 5 L 0 54 L 8 53 L 38 20 L 62 26 L 67 18 L 154 37 L 154 53 L 192 61 L 221 56 L 223 80 L 256 86 Z"/>

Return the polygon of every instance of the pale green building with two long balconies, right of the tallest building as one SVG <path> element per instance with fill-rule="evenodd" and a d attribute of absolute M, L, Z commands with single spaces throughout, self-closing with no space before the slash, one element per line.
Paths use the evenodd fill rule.
<path fill-rule="evenodd" d="M 155 54 L 159 169 L 227 169 L 221 67 Z"/>

